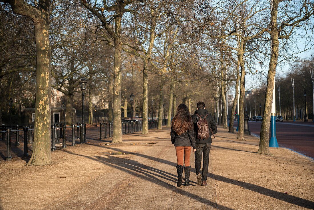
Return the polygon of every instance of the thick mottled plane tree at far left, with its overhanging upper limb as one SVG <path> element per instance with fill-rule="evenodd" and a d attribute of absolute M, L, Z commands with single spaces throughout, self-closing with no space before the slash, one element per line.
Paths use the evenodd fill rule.
<path fill-rule="evenodd" d="M 30 18 L 34 23 L 36 43 L 36 99 L 34 142 L 27 165 L 51 164 L 50 153 L 50 56 L 49 18 L 50 0 L 39 0 L 34 5 L 24 0 L 1 0 L 11 5 L 15 14 Z"/>

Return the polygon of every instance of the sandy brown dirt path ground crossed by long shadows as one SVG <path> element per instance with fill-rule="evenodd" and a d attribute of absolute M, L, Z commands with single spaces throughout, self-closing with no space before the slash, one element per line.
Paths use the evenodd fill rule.
<path fill-rule="evenodd" d="M 169 128 L 122 137 L 58 149 L 49 166 L 0 161 L 0 209 L 314 209 L 314 162 L 285 148 L 257 155 L 259 139 L 218 127 L 208 186 L 191 154 L 191 186 L 177 188 Z"/>

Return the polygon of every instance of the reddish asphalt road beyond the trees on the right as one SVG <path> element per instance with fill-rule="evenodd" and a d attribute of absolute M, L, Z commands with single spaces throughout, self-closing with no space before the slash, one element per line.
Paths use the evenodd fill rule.
<path fill-rule="evenodd" d="M 237 122 L 235 121 L 234 124 L 236 127 Z M 262 122 L 249 121 L 251 134 L 260 136 L 261 124 Z M 279 146 L 314 158 L 313 122 L 276 122 L 276 138 Z"/>

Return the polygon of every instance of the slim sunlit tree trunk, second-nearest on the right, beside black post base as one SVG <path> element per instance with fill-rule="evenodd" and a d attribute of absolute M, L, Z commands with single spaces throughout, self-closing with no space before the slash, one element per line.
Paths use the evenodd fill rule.
<path fill-rule="evenodd" d="M 244 94 L 245 94 L 245 67 L 244 67 L 244 61 L 243 61 L 243 54 L 245 49 L 245 43 L 242 40 L 241 41 L 241 50 L 239 53 L 239 59 L 240 59 L 240 66 L 241 66 L 241 78 L 240 78 L 240 99 L 239 99 L 239 129 L 238 129 L 238 135 L 237 139 L 245 140 L 244 139 Z"/>

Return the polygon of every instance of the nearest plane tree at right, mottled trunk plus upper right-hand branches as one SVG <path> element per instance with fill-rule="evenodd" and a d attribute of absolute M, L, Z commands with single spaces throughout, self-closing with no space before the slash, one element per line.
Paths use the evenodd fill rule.
<path fill-rule="evenodd" d="M 279 8 L 279 3 L 283 3 L 283 8 Z M 267 32 L 271 39 L 271 54 L 267 75 L 267 88 L 265 94 L 265 104 L 263 110 L 263 120 L 261 127 L 261 137 L 257 154 L 269 154 L 269 125 L 270 125 L 270 112 L 273 103 L 273 88 L 275 84 L 276 66 L 279 57 L 279 39 L 284 39 L 285 43 L 294 32 L 295 27 L 300 28 L 302 22 L 309 20 L 314 14 L 314 4 L 311 1 L 300 1 L 300 8 L 294 4 L 286 4 L 283 0 L 271 0 L 270 3 L 270 27 Z M 295 12 L 286 12 L 286 9 L 295 7 Z M 281 23 L 277 22 L 278 13 Z M 282 17 L 284 16 L 284 17 Z M 286 31 L 287 30 L 287 31 Z"/>

